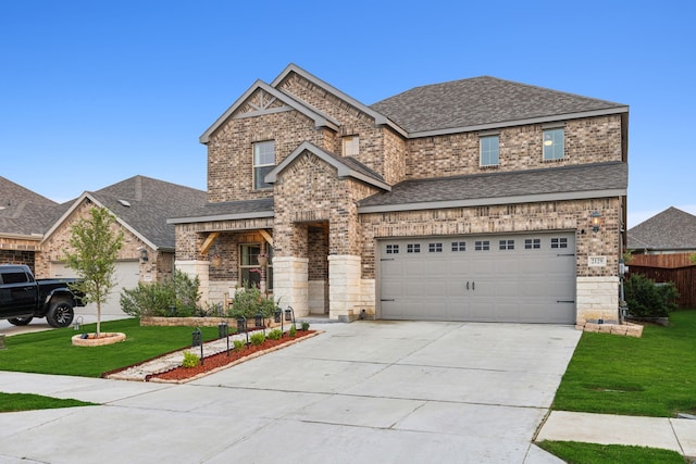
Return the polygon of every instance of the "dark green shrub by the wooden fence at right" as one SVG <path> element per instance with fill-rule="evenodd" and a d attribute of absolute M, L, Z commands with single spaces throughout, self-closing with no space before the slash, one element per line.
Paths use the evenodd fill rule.
<path fill-rule="evenodd" d="M 657 285 L 644 275 L 631 274 L 623 288 L 629 313 L 636 317 L 667 317 L 676 309 L 679 293 L 672 283 Z"/>

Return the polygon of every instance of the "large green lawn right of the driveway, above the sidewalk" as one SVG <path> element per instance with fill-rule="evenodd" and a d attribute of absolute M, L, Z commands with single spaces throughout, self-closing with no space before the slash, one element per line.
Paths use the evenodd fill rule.
<path fill-rule="evenodd" d="M 673 417 L 696 413 L 696 311 L 670 313 L 642 338 L 584 333 L 552 409 Z"/>

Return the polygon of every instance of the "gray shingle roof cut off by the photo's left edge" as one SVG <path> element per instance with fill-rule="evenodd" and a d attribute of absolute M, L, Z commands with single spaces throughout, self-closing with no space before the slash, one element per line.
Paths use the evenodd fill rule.
<path fill-rule="evenodd" d="M 0 176 L 0 234 L 44 234 L 58 203 Z"/>

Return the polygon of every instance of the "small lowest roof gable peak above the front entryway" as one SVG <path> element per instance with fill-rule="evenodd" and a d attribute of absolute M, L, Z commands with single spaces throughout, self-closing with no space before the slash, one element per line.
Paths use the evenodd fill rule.
<path fill-rule="evenodd" d="M 326 150 L 323 150 L 311 142 L 302 142 L 293 153 L 285 158 L 277 166 L 265 175 L 264 180 L 269 184 L 275 184 L 277 176 L 293 164 L 298 156 L 306 151 L 316 155 L 325 163 L 337 170 L 339 178 L 351 177 L 356 180 L 378 187 L 383 190 L 390 190 L 391 187 L 384 181 L 382 176 L 371 171 L 369 167 L 352 158 L 340 158 Z"/>

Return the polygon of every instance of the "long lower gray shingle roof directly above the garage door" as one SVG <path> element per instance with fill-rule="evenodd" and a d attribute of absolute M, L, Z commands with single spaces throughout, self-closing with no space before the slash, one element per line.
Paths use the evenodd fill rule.
<path fill-rule="evenodd" d="M 389 192 L 377 193 L 362 200 L 359 205 L 360 208 L 413 205 L 430 202 L 625 190 L 627 180 L 627 165 L 622 162 L 473 174 L 406 180 L 395 185 Z"/>

